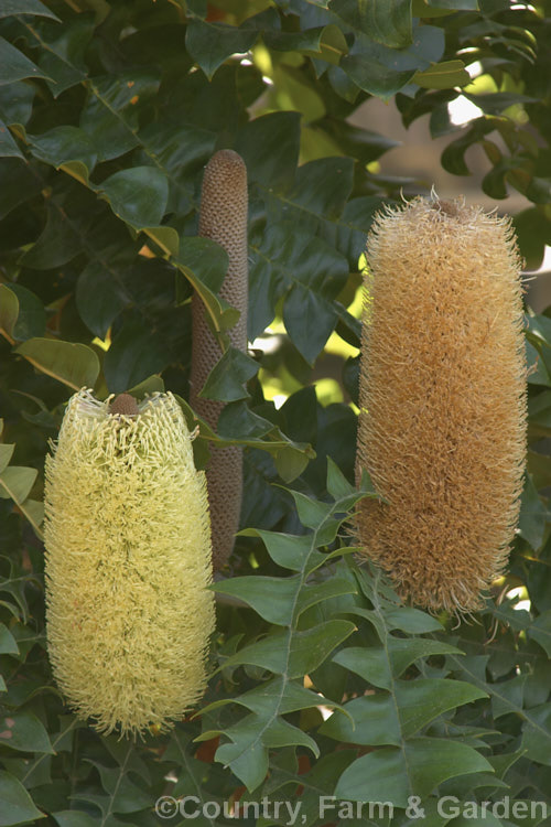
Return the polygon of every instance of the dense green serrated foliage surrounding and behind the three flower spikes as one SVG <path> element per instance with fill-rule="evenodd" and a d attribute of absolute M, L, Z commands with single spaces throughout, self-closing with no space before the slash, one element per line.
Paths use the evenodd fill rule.
<path fill-rule="evenodd" d="M 482 110 L 464 127 L 460 95 Z M 428 827 L 478 824 L 440 815 L 439 795 L 551 804 L 549 314 L 527 310 L 529 474 L 510 574 L 484 611 L 404 606 L 350 554 L 360 257 L 379 206 L 418 189 L 378 174 L 391 141 L 347 123 L 372 96 L 406 125 L 429 115 L 457 175 L 484 149 L 484 192 L 526 196 L 515 224 L 537 267 L 551 244 L 547 2 L 0 3 L 0 825 L 155 825 L 161 795 L 300 801 L 306 825 L 339 820 L 320 818 L 320 795 L 391 802 L 397 825 L 418 796 Z M 249 173 L 255 345 L 212 375 L 228 405 L 195 448 L 205 465 L 220 443 L 245 447 L 247 530 L 217 586 L 201 715 L 132 743 L 78 722 L 53 685 L 43 461 L 84 385 L 165 387 L 193 421 L 192 289 L 220 342 L 234 321 L 217 298 L 225 254 L 196 236 L 223 147 Z M 268 812 L 258 824 L 289 823 Z M 195 824 L 224 823 L 209 813 Z M 515 819 L 480 820 L 499 821 Z"/>

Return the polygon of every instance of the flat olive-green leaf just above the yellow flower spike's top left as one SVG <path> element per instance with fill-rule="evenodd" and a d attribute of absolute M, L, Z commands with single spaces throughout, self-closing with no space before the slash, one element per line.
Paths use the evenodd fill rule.
<path fill-rule="evenodd" d="M 30 339 L 15 350 L 41 373 L 52 376 L 73 390 L 93 388 L 99 374 L 94 351 L 83 344 L 53 339 Z"/>

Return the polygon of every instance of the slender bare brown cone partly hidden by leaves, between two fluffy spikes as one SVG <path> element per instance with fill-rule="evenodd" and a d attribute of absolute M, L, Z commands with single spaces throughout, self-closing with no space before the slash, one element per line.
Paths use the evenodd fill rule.
<path fill-rule="evenodd" d="M 240 155 L 229 149 L 216 152 L 207 163 L 203 180 L 199 235 L 217 241 L 229 258 L 219 294 L 239 313 L 228 331 L 230 344 L 247 351 L 248 265 L 247 265 L 247 169 Z M 212 334 L 201 298 L 192 299 L 193 356 L 191 374 L 192 408 L 216 429 L 223 402 L 201 399 L 197 394 L 222 356 Z M 214 449 L 207 469 L 208 503 L 213 535 L 215 571 L 227 562 L 239 528 L 242 492 L 242 452 L 240 448 Z"/>

